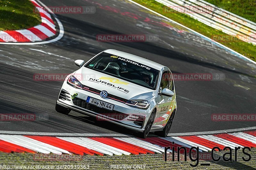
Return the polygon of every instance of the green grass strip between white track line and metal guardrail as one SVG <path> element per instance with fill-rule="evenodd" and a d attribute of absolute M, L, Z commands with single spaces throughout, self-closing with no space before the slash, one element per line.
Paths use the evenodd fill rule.
<path fill-rule="evenodd" d="M 216 30 L 210 26 L 207 26 L 186 14 L 174 11 L 163 4 L 156 2 L 155 0 L 133 0 L 143 6 L 148 7 L 149 9 L 156 11 L 188 28 L 195 30 L 198 33 L 201 33 L 211 39 L 214 39 L 217 42 L 237 51 L 238 53 L 256 61 L 256 46 L 249 44 L 247 42 L 241 41 L 237 38 L 234 38 L 228 34 L 225 34 L 219 30 Z M 234 0 L 235 1 L 235 0 Z M 168 11 L 165 11 L 165 8 Z M 232 41 L 225 41 L 224 38 L 232 39 Z"/>

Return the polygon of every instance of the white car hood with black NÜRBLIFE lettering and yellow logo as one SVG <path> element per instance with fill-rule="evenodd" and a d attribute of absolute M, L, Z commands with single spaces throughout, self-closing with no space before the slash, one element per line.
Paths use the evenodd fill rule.
<path fill-rule="evenodd" d="M 116 95 L 127 100 L 145 100 L 156 95 L 154 90 L 136 85 L 121 78 L 116 78 L 108 74 L 88 69 L 86 67 L 82 67 L 77 70 L 74 76 L 83 85 L 100 91 L 105 90 L 109 94 Z"/>

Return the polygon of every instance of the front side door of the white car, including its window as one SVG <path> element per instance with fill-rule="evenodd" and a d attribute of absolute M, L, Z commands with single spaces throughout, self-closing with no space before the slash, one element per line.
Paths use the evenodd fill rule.
<path fill-rule="evenodd" d="M 162 90 L 164 88 L 172 89 L 173 82 L 171 73 L 166 70 L 162 74 L 160 87 L 158 89 L 158 96 L 156 98 L 156 104 L 158 106 L 156 112 L 156 119 L 152 128 L 162 128 L 166 123 L 170 114 L 170 108 L 172 104 L 172 97 L 164 96 Z"/>

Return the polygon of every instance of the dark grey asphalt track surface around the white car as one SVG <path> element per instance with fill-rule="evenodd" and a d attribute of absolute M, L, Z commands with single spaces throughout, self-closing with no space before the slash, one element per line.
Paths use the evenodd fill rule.
<path fill-rule="evenodd" d="M 133 132 L 112 123 L 55 111 L 61 81 L 35 81 L 35 73 L 71 73 L 105 49 L 147 57 L 173 73 L 224 73 L 225 81 L 176 81 L 178 110 L 170 133 L 255 126 L 213 122 L 212 114 L 255 114 L 256 67 L 249 61 L 129 1 L 43 0 L 47 6 L 95 6 L 95 14 L 57 14 L 61 40 L 43 45 L 0 45 L 0 113 L 44 113 L 48 121 L 0 122 L 0 130 L 59 133 Z M 160 24 L 160 22 L 165 24 Z M 157 34 L 159 41 L 100 42 L 98 34 Z M 42 50 L 42 51 L 38 51 Z"/>

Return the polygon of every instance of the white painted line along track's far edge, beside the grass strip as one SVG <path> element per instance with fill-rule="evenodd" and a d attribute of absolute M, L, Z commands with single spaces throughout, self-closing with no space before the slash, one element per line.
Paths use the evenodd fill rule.
<path fill-rule="evenodd" d="M 244 56 L 244 55 L 242 55 L 242 54 L 236 52 L 235 50 L 233 50 L 233 49 L 231 49 L 231 48 L 228 48 L 228 47 L 224 46 L 223 44 L 220 44 L 219 42 L 214 41 L 214 40 L 212 40 L 211 38 L 206 37 L 205 35 L 196 32 L 195 30 L 192 30 L 191 28 L 188 28 L 188 27 L 186 27 L 186 26 L 183 26 L 182 24 L 180 24 L 180 23 L 178 23 L 178 22 L 176 22 L 176 21 L 174 21 L 174 20 L 172 20 L 172 19 L 170 19 L 170 18 L 167 18 L 167 17 L 165 17 L 164 15 L 161 15 L 161 14 L 157 13 L 156 11 L 153 11 L 153 10 L 151 10 L 151 9 L 149 9 L 149 8 L 147 8 L 147 7 L 143 6 L 143 5 L 141 5 L 141 4 L 138 4 L 138 3 L 136 3 L 136 2 L 134 2 L 134 1 L 132 1 L 132 0 L 128 0 L 128 1 L 130 1 L 131 3 L 136 4 L 136 5 L 138 5 L 138 6 L 142 7 L 142 8 L 144 8 L 144 9 L 150 11 L 150 12 L 153 12 L 153 13 L 155 13 L 156 15 L 159 15 L 160 17 L 163 17 L 163 18 L 165 18 L 165 19 L 168 19 L 169 21 L 174 22 L 175 24 L 177 24 L 177 25 L 179 25 L 179 26 L 182 26 L 182 27 L 184 27 L 184 28 L 186 28 L 186 29 L 192 31 L 193 33 L 196 33 L 196 34 L 198 34 L 198 35 L 204 37 L 205 39 L 208 39 L 208 40 L 210 40 L 210 41 L 212 41 L 212 42 L 214 42 L 214 43 L 220 45 L 221 47 L 224 47 L 224 48 L 226 48 L 226 49 L 232 51 L 233 53 L 235 53 L 235 54 L 237 54 L 237 55 L 243 57 L 244 59 L 246 59 L 246 60 L 248 60 L 248 61 L 250 61 L 250 62 L 256 64 L 256 62 L 253 61 L 253 60 L 251 60 L 250 58 L 247 58 L 246 56 Z"/>

